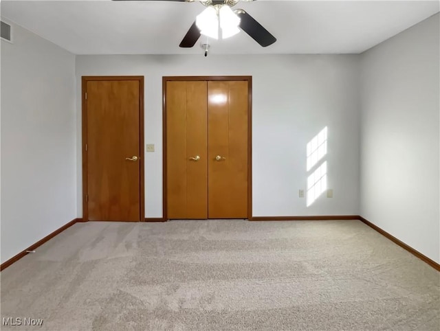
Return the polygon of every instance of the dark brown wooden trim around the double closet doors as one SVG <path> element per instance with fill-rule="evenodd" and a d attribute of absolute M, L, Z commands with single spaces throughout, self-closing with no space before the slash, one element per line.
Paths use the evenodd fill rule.
<path fill-rule="evenodd" d="M 162 77 L 162 217 L 168 220 L 168 182 L 166 168 L 166 82 L 176 81 L 248 82 L 248 219 L 252 219 L 252 76 L 164 76 Z"/>

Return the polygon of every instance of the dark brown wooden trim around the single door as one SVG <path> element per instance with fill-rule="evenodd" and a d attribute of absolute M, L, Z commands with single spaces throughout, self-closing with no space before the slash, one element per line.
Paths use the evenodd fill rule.
<path fill-rule="evenodd" d="M 140 218 L 139 221 L 145 220 L 145 179 L 144 179 L 144 76 L 82 76 L 81 99 L 82 99 L 82 137 L 81 142 L 83 150 L 83 221 L 89 220 L 89 209 L 87 208 L 86 194 L 88 192 L 87 185 L 87 152 L 85 146 L 87 144 L 87 100 L 85 93 L 87 92 L 87 82 L 94 80 L 137 80 L 139 82 L 139 146 L 140 146 Z"/>

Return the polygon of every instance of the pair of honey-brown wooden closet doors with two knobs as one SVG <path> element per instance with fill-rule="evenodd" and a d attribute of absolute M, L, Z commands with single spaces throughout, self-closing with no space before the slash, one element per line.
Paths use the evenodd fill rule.
<path fill-rule="evenodd" d="M 166 81 L 168 219 L 248 218 L 249 81 Z"/>

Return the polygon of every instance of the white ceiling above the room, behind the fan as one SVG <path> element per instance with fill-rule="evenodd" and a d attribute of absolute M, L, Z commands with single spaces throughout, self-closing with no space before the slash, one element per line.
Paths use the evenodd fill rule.
<path fill-rule="evenodd" d="M 74 54 L 199 54 L 179 48 L 201 3 L 1 1 L 1 16 Z M 278 41 L 261 47 L 245 32 L 210 39 L 211 54 L 358 54 L 439 12 L 439 1 L 239 3 Z"/>

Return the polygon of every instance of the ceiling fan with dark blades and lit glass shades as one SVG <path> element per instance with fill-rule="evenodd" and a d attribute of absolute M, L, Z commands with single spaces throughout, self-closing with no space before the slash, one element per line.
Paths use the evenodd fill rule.
<path fill-rule="evenodd" d="M 133 1 L 133 0 L 113 0 L 113 1 Z M 135 0 L 139 1 L 139 0 Z M 195 0 L 141 0 L 141 1 L 179 1 L 194 2 Z M 206 6 L 206 9 L 197 15 L 197 19 L 192 23 L 186 32 L 179 47 L 189 48 L 197 43 L 201 34 L 212 38 L 218 37 L 218 27 L 222 30 L 222 37 L 228 38 L 239 32 L 238 27 L 246 32 L 263 47 L 267 47 L 276 42 L 276 38 L 267 31 L 263 25 L 257 22 L 248 12 L 243 9 L 231 10 L 231 7 L 239 3 L 240 0 L 199 0 Z M 254 0 L 242 0 L 254 1 Z"/>

